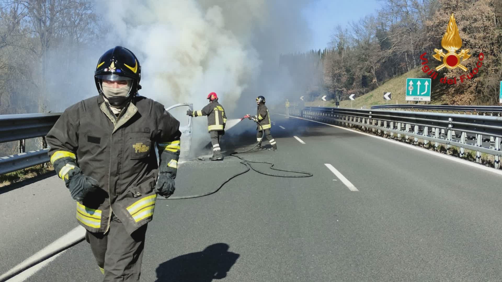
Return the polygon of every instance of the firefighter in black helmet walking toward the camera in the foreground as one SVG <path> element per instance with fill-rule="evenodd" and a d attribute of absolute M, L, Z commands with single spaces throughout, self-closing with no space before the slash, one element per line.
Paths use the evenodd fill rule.
<path fill-rule="evenodd" d="M 106 51 L 94 72 L 98 95 L 68 107 L 46 136 L 106 282 L 140 280 L 157 194 L 167 198 L 175 190 L 180 122 L 137 95 L 140 74 L 130 50 Z"/>

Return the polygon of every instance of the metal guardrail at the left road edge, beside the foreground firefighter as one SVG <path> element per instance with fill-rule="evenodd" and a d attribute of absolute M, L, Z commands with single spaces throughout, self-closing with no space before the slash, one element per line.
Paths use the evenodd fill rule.
<path fill-rule="evenodd" d="M 19 141 L 19 154 L 0 158 L 0 175 L 49 162 L 45 135 L 61 113 L 0 115 L 0 143 Z M 43 138 L 43 149 L 25 152 L 25 139 Z"/>

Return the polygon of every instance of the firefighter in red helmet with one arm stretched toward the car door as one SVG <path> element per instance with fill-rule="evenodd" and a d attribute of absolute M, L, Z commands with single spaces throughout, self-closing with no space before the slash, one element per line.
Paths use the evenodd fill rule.
<path fill-rule="evenodd" d="M 207 116 L 207 131 L 211 136 L 211 144 L 213 145 L 213 156 L 209 160 L 221 161 L 223 160 L 223 156 L 221 155 L 219 140 L 221 135 L 225 134 L 226 114 L 223 106 L 218 103 L 218 95 L 215 92 L 209 93 L 207 99 L 209 99 L 209 104 L 201 110 L 187 110 L 187 115 L 193 117 Z"/>

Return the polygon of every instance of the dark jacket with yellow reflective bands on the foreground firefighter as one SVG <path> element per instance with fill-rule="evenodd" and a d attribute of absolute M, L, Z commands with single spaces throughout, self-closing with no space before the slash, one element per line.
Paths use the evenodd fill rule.
<path fill-rule="evenodd" d="M 47 134 L 49 157 L 76 159 L 82 174 L 101 189 L 77 202 L 77 220 L 90 232 L 106 232 L 111 212 L 131 234 L 153 219 L 159 166 L 169 160 L 176 177 L 180 151 L 180 122 L 154 100 L 136 96 L 118 120 L 101 95 L 68 107 Z M 64 179 L 67 170 L 59 171 Z M 110 208 L 111 207 L 111 208 Z"/>

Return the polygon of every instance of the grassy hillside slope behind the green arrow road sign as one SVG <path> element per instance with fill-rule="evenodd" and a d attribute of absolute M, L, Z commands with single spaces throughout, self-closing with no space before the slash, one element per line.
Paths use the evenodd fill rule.
<path fill-rule="evenodd" d="M 395 77 L 393 79 L 388 80 L 380 87 L 362 95 L 356 97 L 355 100 L 352 101 L 353 108 L 361 108 L 366 105 L 366 108 L 369 108 L 372 105 L 381 105 L 385 104 L 387 100 L 384 99 L 384 92 L 391 92 L 392 99 L 388 101 L 389 104 L 406 104 L 405 90 L 406 90 L 406 78 L 428 78 L 428 76 L 420 69 L 413 69 L 401 76 Z M 439 86 L 439 85 L 437 85 Z M 436 88 L 436 89 L 435 89 Z M 441 95 L 440 89 L 438 87 L 432 88 L 431 93 L 431 101 L 428 104 L 442 104 L 444 103 L 444 99 Z M 417 103 L 414 101 L 410 101 L 410 103 Z M 425 104 L 425 102 L 418 102 L 420 104 Z M 306 106 L 322 106 L 323 101 L 321 99 L 315 100 L 313 102 L 305 102 Z M 325 101 L 325 107 L 336 107 L 335 101 Z M 350 99 L 340 101 L 340 107 L 350 108 Z"/>

